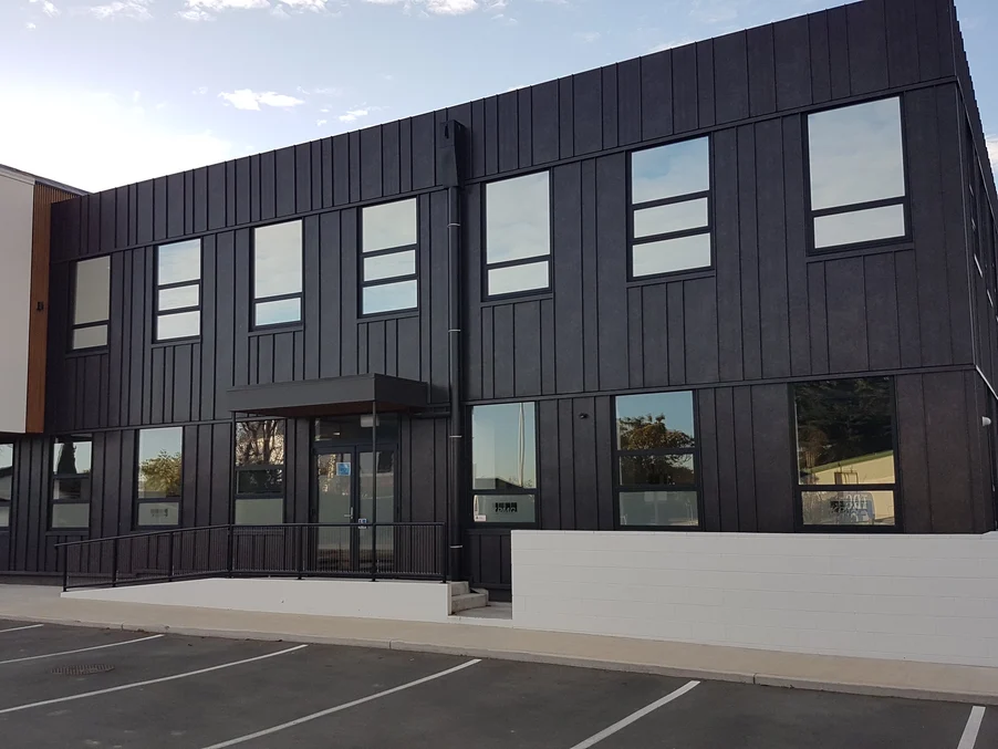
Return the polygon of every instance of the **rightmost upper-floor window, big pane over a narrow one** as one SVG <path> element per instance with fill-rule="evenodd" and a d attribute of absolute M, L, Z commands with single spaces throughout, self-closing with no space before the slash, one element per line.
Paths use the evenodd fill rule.
<path fill-rule="evenodd" d="M 907 236 L 901 100 L 808 117 L 814 249 Z"/>

